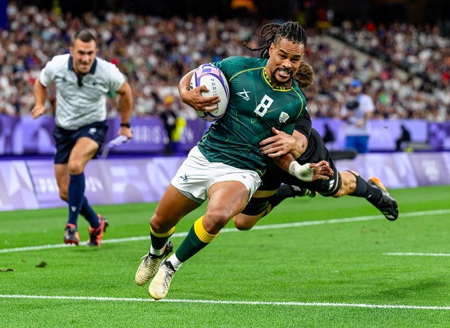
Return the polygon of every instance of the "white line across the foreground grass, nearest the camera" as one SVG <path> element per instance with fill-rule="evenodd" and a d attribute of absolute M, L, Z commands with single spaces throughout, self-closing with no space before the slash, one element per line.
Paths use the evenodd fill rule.
<path fill-rule="evenodd" d="M 287 307 L 367 307 L 372 309 L 416 309 L 416 310 L 450 310 L 450 307 L 417 306 L 404 304 L 358 304 L 329 302 L 260 302 L 228 300 L 158 300 L 152 298 L 98 298 L 89 296 L 45 296 L 45 295 L 0 295 L 0 298 L 35 298 L 41 300 L 94 300 L 113 302 L 164 302 L 164 303 L 204 303 L 204 304 L 240 304 L 240 305 L 278 305 Z"/>

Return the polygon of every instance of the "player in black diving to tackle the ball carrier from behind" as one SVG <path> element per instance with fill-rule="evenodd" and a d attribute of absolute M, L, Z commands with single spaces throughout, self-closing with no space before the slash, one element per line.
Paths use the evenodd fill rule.
<path fill-rule="evenodd" d="M 296 74 L 296 81 L 300 89 L 305 90 L 312 84 L 314 71 L 306 62 L 302 61 Z M 259 219 L 266 216 L 281 201 L 289 197 L 310 196 L 320 193 L 325 197 L 342 197 L 350 195 L 363 197 L 378 208 L 390 221 L 397 219 L 399 212 L 397 201 L 387 192 L 384 185 L 377 178 L 364 181 L 357 172 L 338 172 L 325 147 L 321 135 L 312 129 L 311 120 L 307 117 L 296 123 L 294 136 L 279 133 L 263 140 L 261 150 L 263 154 L 285 154 L 296 149 L 292 144 L 300 143 L 305 149 L 303 154 L 296 154 L 298 163 L 314 162 L 316 158 L 325 159 L 330 163 L 334 174 L 328 180 L 301 181 L 295 176 L 287 174 L 277 165 L 267 165 L 267 171 L 262 176 L 262 186 L 253 194 L 246 208 L 233 219 L 235 227 L 240 230 L 251 229 Z M 284 183 L 282 185 L 282 183 Z"/>

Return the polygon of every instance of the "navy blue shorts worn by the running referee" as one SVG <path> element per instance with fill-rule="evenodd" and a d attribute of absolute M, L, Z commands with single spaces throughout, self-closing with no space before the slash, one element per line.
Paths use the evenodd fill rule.
<path fill-rule="evenodd" d="M 69 156 L 75 143 L 82 137 L 90 138 L 98 143 L 98 149 L 105 142 L 105 136 L 108 131 L 106 122 L 95 122 L 78 130 L 66 130 L 61 127 L 55 127 L 53 138 L 55 138 L 55 164 L 65 164 L 69 161 Z M 96 157 L 96 156 L 94 156 Z"/>

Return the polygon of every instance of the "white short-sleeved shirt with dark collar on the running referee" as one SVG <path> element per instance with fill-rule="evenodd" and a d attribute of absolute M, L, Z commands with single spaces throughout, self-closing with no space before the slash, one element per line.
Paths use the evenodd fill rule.
<path fill-rule="evenodd" d="M 106 120 L 107 94 L 120 89 L 125 75 L 116 65 L 96 57 L 91 71 L 80 77 L 73 70 L 71 55 L 65 54 L 47 62 L 39 81 L 45 87 L 56 85 L 56 125 L 76 130 Z"/>

